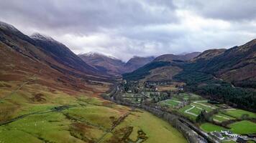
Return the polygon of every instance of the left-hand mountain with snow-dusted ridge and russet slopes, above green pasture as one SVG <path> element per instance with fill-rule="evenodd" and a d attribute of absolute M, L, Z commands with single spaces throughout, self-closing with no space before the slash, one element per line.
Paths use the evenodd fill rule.
<path fill-rule="evenodd" d="M 0 22 L 0 47 L 1 81 L 22 82 L 37 77 L 37 84 L 65 91 L 91 91 L 89 84 L 93 81 L 114 82 L 60 42 L 40 34 L 29 37 L 4 22 Z"/>

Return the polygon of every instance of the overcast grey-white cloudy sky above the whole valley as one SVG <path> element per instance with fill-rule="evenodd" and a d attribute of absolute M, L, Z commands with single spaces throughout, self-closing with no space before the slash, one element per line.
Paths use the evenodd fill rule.
<path fill-rule="evenodd" d="M 0 0 L 0 21 L 127 61 L 256 38 L 255 0 Z"/>

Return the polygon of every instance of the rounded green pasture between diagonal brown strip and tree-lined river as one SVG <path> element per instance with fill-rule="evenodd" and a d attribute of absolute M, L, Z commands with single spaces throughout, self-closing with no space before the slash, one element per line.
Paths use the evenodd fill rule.
<path fill-rule="evenodd" d="M 130 128 L 129 132 L 124 132 Z M 140 137 L 139 131 L 144 132 L 145 137 L 147 138 L 145 142 L 155 143 L 155 142 L 186 142 L 180 132 L 177 132 L 176 129 L 170 127 L 167 122 L 152 116 L 152 114 L 147 112 L 132 112 L 125 120 L 122 122 L 113 133 L 109 134 L 123 134 L 124 136 L 127 133 L 127 136 L 130 141 L 136 142 Z M 110 136 L 110 135 L 109 135 Z M 117 142 L 117 139 L 107 136 L 104 138 L 104 142 Z"/>

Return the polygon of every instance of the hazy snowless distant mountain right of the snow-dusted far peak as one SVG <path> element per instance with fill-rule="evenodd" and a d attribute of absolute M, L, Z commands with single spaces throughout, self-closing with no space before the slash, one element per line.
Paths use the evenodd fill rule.
<path fill-rule="evenodd" d="M 124 71 L 131 72 L 134 71 L 135 69 L 138 69 L 142 66 L 144 66 L 147 63 L 150 63 L 155 59 L 154 56 L 148 56 L 148 57 L 141 57 L 141 56 L 134 56 L 132 59 L 129 59 L 126 64 L 124 64 Z"/>

